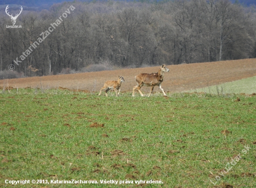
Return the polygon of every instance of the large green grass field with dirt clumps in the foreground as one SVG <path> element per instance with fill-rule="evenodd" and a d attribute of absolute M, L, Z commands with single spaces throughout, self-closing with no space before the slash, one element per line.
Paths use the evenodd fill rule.
<path fill-rule="evenodd" d="M 256 187 L 256 96 L 113 95 L 1 91 L 0 187 Z"/>

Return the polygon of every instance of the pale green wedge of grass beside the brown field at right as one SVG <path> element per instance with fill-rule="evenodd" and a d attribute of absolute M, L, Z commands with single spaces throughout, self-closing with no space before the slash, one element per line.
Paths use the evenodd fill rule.
<path fill-rule="evenodd" d="M 227 82 L 219 85 L 212 85 L 205 88 L 194 89 L 188 92 L 206 92 L 212 94 L 227 93 L 256 93 L 256 77 L 244 78 L 233 82 Z"/>

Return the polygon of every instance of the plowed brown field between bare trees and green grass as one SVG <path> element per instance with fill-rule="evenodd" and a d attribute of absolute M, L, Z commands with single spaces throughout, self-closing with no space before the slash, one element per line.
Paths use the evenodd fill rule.
<path fill-rule="evenodd" d="M 0 87 L 44 87 L 45 89 L 63 87 L 72 90 L 100 91 L 105 81 L 117 80 L 118 76 L 122 76 L 125 82 L 121 85 L 121 91 L 128 91 L 137 84 L 135 82 L 137 74 L 157 72 L 159 67 L 5 79 L 0 80 Z M 181 92 L 256 76 L 256 59 L 168 65 L 168 68 L 170 71 L 164 73 L 162 87 L 165 91 Z M 149 87 L 144 86 L 141 90 L 149 91 Z M 154 91 L 161 90 L 155 87 Z"/>

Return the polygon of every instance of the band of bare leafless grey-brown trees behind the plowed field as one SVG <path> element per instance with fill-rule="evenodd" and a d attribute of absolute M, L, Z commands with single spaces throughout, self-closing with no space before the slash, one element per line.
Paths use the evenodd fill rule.
<path fill-rule="evenodd" d="M 256 8 L 229 0 L 64 2 L 40 12 L 23 10 L 16 21 L 22 28 L 9 25 L 11 19 L 1 13 L 0 71 L 13 64 L 24 76 L 95 64 L 141 67 L 256 57 Z M 27 53 L 35 41 L 39 45 Z M 23 53 L 27 57 L 16 65 Z"/>

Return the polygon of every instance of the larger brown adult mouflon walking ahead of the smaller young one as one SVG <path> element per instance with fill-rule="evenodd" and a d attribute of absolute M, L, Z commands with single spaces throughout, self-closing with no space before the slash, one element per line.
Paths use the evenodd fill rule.
<path fill-rule="evenodd" d="M 135 80 L 138 83 L 135 87 L 133 87 L 133 97 L 134 97 L 134 93 L 135 90 L 138 90 L 141 94 L 141 97 L 144 97 L 143 93 L 141 92 L 141 87 L 142 86 L 151 86 L 151 90 L 150 93 L 148 95 L 148 97 L 150 96 L 151 92 L 153 91 L 155 85 L 158 85 L 159 88 L 162 90 L 162 93 L 164 96 L 166 96 L 165 92 L 162 89 L 162 81 L 163 81 L 163 72 L 168 72 L 170 71 L 166 65 L 162 65 L 161 68 L 158 70 L 157 73 L 151 73 L 151 74 L 147 74 L 147 73 L 141 73 L 137 76 L 135 76 Z"/>

